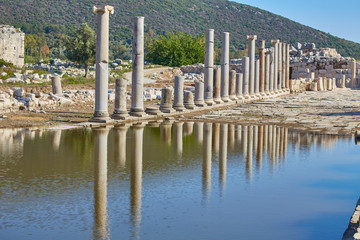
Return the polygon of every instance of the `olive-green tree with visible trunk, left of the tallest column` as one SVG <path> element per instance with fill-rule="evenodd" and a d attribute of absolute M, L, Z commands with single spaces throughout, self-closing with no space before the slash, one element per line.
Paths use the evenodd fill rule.
<path fill-rule="evenodd" d="M 96 54 L 95 31 L 86 23 L 76 31 L 73 38 L 65 43 L 65 56 L 73 62 L 85 65 L 85 77 L 88 77 L 89 64 L 93 63 Z"/>

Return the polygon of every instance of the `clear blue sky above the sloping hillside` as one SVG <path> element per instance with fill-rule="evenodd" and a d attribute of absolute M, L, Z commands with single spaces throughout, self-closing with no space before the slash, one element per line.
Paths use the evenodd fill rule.
<path fill-rule="evenodd" d="M 360 0 L 233 0 L 360 43 Z"/>

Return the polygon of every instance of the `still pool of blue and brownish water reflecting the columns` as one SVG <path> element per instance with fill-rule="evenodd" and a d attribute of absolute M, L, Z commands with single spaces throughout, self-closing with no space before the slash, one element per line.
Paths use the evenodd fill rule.
<path fill-rule="evenodd" d="M 268 125 L 0 129 L 0 239 L 341 239 L 359 154 Z"/>

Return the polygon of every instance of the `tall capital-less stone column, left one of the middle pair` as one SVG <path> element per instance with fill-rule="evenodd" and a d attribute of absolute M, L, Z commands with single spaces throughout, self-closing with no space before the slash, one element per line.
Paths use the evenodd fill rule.
<path fill-rule="evenodd" d="M 205 43 L 205 82 L 204 82 L 204 100 L 209 106 L 213 101 L 213 78 L 214 78 L 214 29 L 208 29 L 206 32 Z"/>

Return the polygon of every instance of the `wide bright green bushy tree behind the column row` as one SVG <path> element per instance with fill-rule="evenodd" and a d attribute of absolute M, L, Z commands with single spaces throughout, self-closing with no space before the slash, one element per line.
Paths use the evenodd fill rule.
<path fill-rule="evenodd" d="M 205 38 L 186 33 L 168 33 L 154 39 L 148 46 L 146 58 L 155 64 L 170 67 L 203 63 Z"/>

